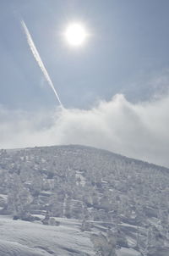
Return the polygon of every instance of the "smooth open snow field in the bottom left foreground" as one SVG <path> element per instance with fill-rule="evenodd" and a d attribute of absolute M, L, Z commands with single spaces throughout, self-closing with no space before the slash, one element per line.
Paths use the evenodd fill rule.
<path fill-rule="evenodd" d="M 80 231 L 74 221 L 77 224 L 77 220 L 63 220 L 64 225 L 49 226 L 1 216 L 0 255 L 95 255 L 90 235 Z"/>

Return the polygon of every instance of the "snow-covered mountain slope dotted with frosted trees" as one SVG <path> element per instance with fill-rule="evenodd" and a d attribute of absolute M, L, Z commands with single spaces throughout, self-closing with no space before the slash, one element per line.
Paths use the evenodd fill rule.
<path fill-rule="evenodd" d="M 168 256 L 168 184 L 93 147 L 1 150 L 0 255 Z"/>

